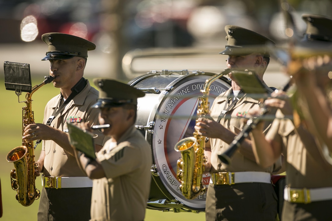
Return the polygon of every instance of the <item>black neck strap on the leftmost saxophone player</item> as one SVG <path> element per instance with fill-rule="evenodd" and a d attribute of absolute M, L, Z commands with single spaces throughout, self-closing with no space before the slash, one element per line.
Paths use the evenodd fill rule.
<path fill-rule="evenodd" d="M 79 93 L 85 88 L 86 84 L 87 84 L 86 79 L 82 77 L 82 78 L 81 78 L 81 79 L 75 84 L 75 86 L 72 87 L 72 88 L 70 89 L 72 92 L 71 92 L 71 94 L 69 95 L 69 97 L 63 102 L 63 104 L 62 104 L 58 109 L 57 109 L 57 108 L 54 109 L 52 115 L 48 118 L 48 120 L 47 120 L 47 122 L 46 122 L 46 125 L 49 126 L 49 125 L 51 124 L 52 120 L 53 120 L 53 119 L 54 119 L 59 113 L 61 113 L 61 112 L 65 109 L 66 105 L 67 105 L 71 100 L 73 100 L 73 98 L 74 98 L 76 95 L 78 95 L 78 94 L 79 94 Z M 62 94 L 61 94 L 60 101 L 61 101 L 61 99 L 63 99 L 63 95 L 62 95 Z M 60 101 L 59 101 L 57 107 L 59 106 Z M 40 143 L 41 143 L 41 140 L 37 140 L 37 141 L 36 141 L 36 145 L 35 145 L 34 148 L 36 148 L 36 147 L 37 147 L 37 144 L 40 144 Z"/>

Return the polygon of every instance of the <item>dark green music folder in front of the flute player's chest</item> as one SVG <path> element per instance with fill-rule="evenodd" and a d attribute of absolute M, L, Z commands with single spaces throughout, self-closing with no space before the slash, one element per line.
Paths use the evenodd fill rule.
<path fill-rule="evenodd" d="M 93 134 L 82 130 L 74 124 L 67 123 L 69 132 L 69 142 L 76 150 L 81 151 L 86 157 L 96 159 Z"/>

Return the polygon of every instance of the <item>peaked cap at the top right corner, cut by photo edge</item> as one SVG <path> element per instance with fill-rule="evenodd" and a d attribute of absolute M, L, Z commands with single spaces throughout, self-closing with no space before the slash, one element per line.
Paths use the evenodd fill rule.
<path fill-rule="evenodd" d="M 326 16 L 315 14 L 303 14 L 302 19 L 307 27 L 302 41 L 331 41 L 332 20 Z"/>

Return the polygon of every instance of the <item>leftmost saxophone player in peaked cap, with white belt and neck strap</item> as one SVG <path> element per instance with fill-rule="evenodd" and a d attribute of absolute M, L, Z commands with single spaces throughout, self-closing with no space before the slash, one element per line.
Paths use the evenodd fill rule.
<path fill-rule="evenodd" d="M 48 45 L 42 60 L 50 61 L 53 86 L 60 94 L 46 105 L 43 123 L 25 128 L 23 139 L 42 140 L 38 171 L 42 175 L 42 191 L 38 220 L 89 220 L 92 180 L 84 174 L 70 146 L 67 123 L 98 124 L 98 111 L 91 108 L 98 91 L 83 78 L 88 50 L 95 44 L 80 37 L 46 33 L 42 40 Z M 96 132 L 95 143 L 101 148 L 105 136 Z"/>

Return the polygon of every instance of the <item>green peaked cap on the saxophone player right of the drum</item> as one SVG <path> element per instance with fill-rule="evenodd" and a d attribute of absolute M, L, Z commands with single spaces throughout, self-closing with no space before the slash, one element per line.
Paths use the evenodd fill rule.
<path fill-rule="evenodd" d="M 247 55 L 259 52 L 264 54 L 264 57 L 270 57 L 268 47 L 275 45 L 271 39 L 238 26 L 227 25 L 225 32 L 227 33 L 227 44 L 225 50 L 219 54 Z"/>

